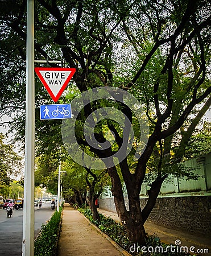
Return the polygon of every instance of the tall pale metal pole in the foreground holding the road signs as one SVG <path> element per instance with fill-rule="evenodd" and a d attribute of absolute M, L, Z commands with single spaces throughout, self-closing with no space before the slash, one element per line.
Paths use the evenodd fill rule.
<path fill-rule="evenodd" d="M 34 255 L 34 0 L 27 0 L 26 138 L 22 255 Z"/>

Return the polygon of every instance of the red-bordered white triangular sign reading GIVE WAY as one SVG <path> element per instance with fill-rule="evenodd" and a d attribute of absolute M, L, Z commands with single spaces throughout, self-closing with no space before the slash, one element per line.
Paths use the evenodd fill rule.
<path fill-rule="evenodd" d="M 52 100 L 58 101 L 68 82 L 76 72 L 75 68 L 35 68 L 40 81 L 47 89 Z"/>

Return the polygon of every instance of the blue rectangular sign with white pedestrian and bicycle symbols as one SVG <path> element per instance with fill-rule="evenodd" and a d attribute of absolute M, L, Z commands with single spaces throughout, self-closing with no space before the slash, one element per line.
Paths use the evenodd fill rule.
<path fill-rule="evenodd" d="M 71 104 L 40 105 L 40 119 L 72 118 Z"/>

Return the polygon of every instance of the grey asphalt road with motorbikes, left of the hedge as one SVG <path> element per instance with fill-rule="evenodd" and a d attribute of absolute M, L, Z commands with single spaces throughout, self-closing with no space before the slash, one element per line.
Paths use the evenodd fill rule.
<path fill-rule="evenodd" d="M 42 224 L 48 221 L 54 211 L 49 202 L 42 208 L 35 207 L 35 237 Z M 6 209 L 0 209 L 0 255 L 22 255 L 23 210 L 13 210 L 13 216 L 7 218 Z"/>

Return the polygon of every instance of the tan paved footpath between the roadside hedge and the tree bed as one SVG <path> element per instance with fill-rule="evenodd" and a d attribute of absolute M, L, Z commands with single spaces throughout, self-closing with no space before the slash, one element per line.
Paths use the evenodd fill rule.
<path fill-rule="evenodd" d="M 77 210 L 64 204 L 58 256 L 123 255 Z"/>

